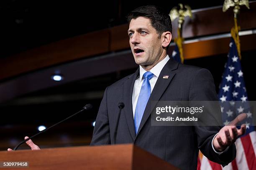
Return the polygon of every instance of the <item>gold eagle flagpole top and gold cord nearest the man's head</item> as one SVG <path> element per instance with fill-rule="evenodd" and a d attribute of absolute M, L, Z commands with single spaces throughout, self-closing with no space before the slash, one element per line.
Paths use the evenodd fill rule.
<path fill-rule="evenodd" d="M 178 18 L 178 37 L 174 39 L 174 42 L 177 44 L 179 48 L 179 54 L 181 62 L 184 62 L 183 57 L 183 49 L 182 49 L 182 43 L 184 39 L 182 38 L 182 24 L 184 23 L 185 17 L 189 16 L 192 18 L 192 12 L 189 5 L 182 5 L 178 4 L 178 7 L 173 7 L 172 10 L 169 13 L 169 16 L 172 21 L 174 21 L 176 18 Z"/>

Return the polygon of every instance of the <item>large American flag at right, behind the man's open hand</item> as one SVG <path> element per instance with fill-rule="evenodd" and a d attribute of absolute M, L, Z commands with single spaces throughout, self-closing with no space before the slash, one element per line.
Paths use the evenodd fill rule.
<path fill-rule="evenodd" d="M 223 168 L 200 154 L 197 170 L 256 170 L 256 132 L 254 127 L 251 126 L 252 113 L 248 107 L 241 62 L 233 38 L 231 38 L 229 46 L 228 62 L 225 64 L 225 71 L 218 94 L 223 114 L 223 125 L 227 125 L 238 114 L 246 112 L 247 118 L 241 122 L 246 124 L 246 134 L 236 140 L 236 159 L 232 163 Z"/>

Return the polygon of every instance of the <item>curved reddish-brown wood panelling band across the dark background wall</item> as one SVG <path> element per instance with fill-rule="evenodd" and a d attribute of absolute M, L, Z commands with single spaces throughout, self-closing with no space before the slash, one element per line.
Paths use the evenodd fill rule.
<path fill-rule="evenodd" d="M 256 2 L 250 10 L 241 7 L 238 23 L 241 30 L 256 28 Z M 233 26 L 233 11 L 223 13 L 222 8 L 199 10 L 184 23 L 184 38 L 215 35 L 229 32 Z M 0 80 L 20 74 L 59 65 L 61 63 L 98 56 L 130 48 L 128 24 L 91 32 L 66 40 L 53 42 L 26 52 L 0 59 Z M 173 22 L 173 37 L 177 36 L 177 20 Z M 241 37 L 241 50 L 256 49 L 255 35 Z M 216 55 L 228 51 L 229 38 L 195 42 L 184 45 L 185 59 Z"/>

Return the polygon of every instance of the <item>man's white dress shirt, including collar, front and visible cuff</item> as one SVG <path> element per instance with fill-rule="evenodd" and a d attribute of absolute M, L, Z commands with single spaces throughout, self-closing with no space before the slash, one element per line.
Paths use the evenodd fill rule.
<path fill-rule="evenodd" d="M 152 77 L 149 80 L 150 86 L 151 86 L 151 92 L 154 89 L 155 85 L 156 85 L 156 81 L 160 75 L 161 70 L 164 68 L 164 65 L 166 65 L 166 63 L 168 62 L 168 60 L 170 59 L 169 55 L 166 55 L 166 57 L 161 60 L 159 63 L 157 63 L 153 68 L 151 68 L 151 70 L 149 70 L 150 72 L 152 72 L 154 74 L 154 77 Z M 140 76 L 135 80 L 134 82 L 134 86 L 133 86 L 133 96 L 132 96 L 132 102 L 133 102 L 133 118 L 134 118 L 134 114 L 135 114 L 135 109 L 136 109 L 136 105 L 137 105 L 137 101 L 138 101 L 138 96 L 140 94 L 141 91 L 141 86 L 143 83 L 142 77 L 143 74 L 146 72 L 146 70 L 144 70 L 141 66 L 140 66 Z M 218 134 L 218 133 L 217 133 Z M 217 135 L 216 134 L 216 135 Z M 215 136 L 216 136 L 215 135 Z M 228 150 L 228 148 L 226 148 L 223 152 L 217 152 L 214 147 L 213 147 L 213 140 L 215 138 L 215 136 L 212 139 L 212 149 L 214 150 L 215 153 L 218 153 L 219 155 L 226 152 Z"/>

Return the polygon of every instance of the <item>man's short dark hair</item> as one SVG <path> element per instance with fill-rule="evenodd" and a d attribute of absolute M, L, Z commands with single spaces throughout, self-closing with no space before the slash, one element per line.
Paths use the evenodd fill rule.
<path fill-rule="evenodd" d="M 127 15 L 128 23 L 132 19 L 138 17 L 145 17 L 151 20 L 151 25 L 156 29 L 159 37 L 163 32 L 169 31 L 172 33 L 172 21 L 168 14 L 164 12 L 161 7 L 156 7 L 154 5 L 146 5 L 136 8 Z"/>

